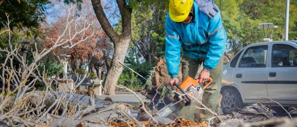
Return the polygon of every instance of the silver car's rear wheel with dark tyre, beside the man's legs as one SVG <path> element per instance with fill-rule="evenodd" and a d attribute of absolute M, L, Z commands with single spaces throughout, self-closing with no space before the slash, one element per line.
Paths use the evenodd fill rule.
<path fill-rule="evenodd" d="M 239 111 L 239 109 L 242 109 L 243 102 L 241 95 L 236 89 L 226 88 L 221 91 L 221 94 L 221 107 L 224 114 L 232 114 L 233 111 Z"/>

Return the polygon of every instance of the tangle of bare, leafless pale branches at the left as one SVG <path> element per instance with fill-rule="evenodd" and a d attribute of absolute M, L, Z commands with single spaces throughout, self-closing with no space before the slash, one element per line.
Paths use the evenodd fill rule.
<path fill-rule="evenodd" d="M 91 112 L 95 108 L 94 98 L 91 95 L 91 105 L 87 108 L 78 104 L 72 104 L 72 97 L 74 97 L 75 89 L 86 78 L 86 74 L 74 81 L 74 89 L 71 89 L 69 93 L 54 91 L 50 86 L 54 79 L 47 76 L 47 72 L 40 72 L 38 70 L 38 62 L 53 51 L 57 47 L 61 48 L 73 48 L 75 45 L 87 40 L 92 36 L 86 35 L 86 30 L 92 25 L 92 22 L 84 21 L 84 27 L 78 29 L 76 23 L 81 19 L 70 18 L 73 7 L 68 11 L 65 27 L 61 35 L 55 40 L 51 41 L 53 46 L 42 51 L 38 51 L 36 43 L 36 51 L 33 53 L 32 61 L 24 61 L 24 58 L 19 55 L 20 46 L 13 46 L 11 43 L 10 34 L 10 21 L 7 14 L 7 30 L 8 32 L 9 47 L 0 47 L 0 51 L 6 54 L 6 58 L 1 63 L 0 69 L 2 70 L 0 79 L 2 81 L 2 92 L 0 94 L 0 120 L 10 126 L 14 126 L 15 123 L 20 123 L 23 126 L 37 126 L 46 122 L 46 115 L 58 115 L 58 111 L 62 110 L 60 116 L 78 119 L 82 115 Z M 75 32 L 71 32 L 72 30 Z M 1 32 L 1 33 L 3 33 Z M 73 38 L 80 35 L 81 39 L 73 41 Z M 14 48 L 16 47 L 16 48 Z M 16 68 L 13 65 L 13 59 L 16 59 L 20 63 L 20 67 Z M 22 71 L 22 68 L 24 70 Z M 67 74 L 64 74 L 67 77 Z M 30 80 L 29 80 L 30 78 Z M 42 82 L 46 88 L 44 91 L 35 91 L 36 81 Z M 67 79 L 71 80 L 71 78 Z M 68 81 L 67 81 L 68 82 Z M 68 86 L 67 86 L 68 87 Z M 68 88 L 70 89 L 70 88 Z M 29 90 L 33 90 L 29 92 Z"/>

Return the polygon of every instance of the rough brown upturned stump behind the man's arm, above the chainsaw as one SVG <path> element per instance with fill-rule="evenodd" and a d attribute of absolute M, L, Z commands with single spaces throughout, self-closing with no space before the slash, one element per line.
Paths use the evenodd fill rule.
<path fill-rule="evenodd" d="M 166 59 L 162 58 L 156 64 L 155 69 L 155 77 L 152 78 L 152 87 L 157 88 L 160 85 L 167 85 L 170 81 L 170 75 L 168 75 L 167 66 L 166 66 Z M 178 79 L 181 81 L 182 74 L 181 74 L 181 64 L 179 66 L 179 74 Z"/>

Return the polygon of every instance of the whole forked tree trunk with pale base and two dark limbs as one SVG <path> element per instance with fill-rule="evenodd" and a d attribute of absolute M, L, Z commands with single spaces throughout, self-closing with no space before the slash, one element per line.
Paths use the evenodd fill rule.
<path fill-rule="evenodd" d="M 132 8 L 127 6 L 125 0 L 116 0 L 122 20 L 122 34 L 119 35 L 113 29 L 112 25 L 108 21 L 105 12 L 103 11 L 100 0 L 91 0 L 96 17 L 102 26 L 102 29 L 108 35 L 110 40 L 114 44 L 114 53 L 111 60 L 110 69 L 107 72 L 107 76 L 104 82 L 104 93 L 113 95 L 115 94 L 115 85 L 119 79 L 120 74 L 123 71 L 123 66 L 119 64 L 119 61 L 124 61 L 124 58 L 129 47 L 131 40 L 131 13 Z"/>

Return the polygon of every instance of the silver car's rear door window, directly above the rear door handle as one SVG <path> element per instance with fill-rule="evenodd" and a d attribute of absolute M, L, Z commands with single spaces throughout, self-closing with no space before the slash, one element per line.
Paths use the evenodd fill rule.
<path fill-rule="evenodd" d="M 268 45 L 260 45 L 248 48 L 239 63 L 238 67 L 266 67 Z"/>

